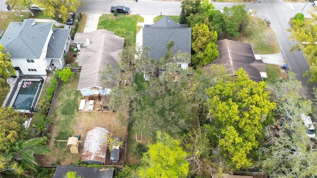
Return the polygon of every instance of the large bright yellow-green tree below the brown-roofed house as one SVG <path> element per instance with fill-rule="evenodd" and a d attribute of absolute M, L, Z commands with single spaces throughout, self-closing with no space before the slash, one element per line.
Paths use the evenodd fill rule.
<path fill-rule="evenodd" d="M 233 82 L 219 79 L 207 90 L 213 139 L 219 139 L 220 152 L 233 169 L 252 166 L 250 153 L 264 138 L 266 119 L 276 108 L 270 102 L 264 82 L 254 82 L 241 68 Z"/>

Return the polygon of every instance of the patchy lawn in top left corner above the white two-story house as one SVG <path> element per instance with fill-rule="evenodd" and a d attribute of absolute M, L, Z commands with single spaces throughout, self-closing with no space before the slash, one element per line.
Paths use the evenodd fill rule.
<path fill-rule="evenodd" d="M 17 15 L 19 14 L 19 15 Z M 0 30 L 3 30 L 3 34 L 5 30 L 8 28 L 10 22 L 22 22 L 24 19 L 29 18 L 30 12 L 5 12 L 2 11 L 0 15 Z M 5 18 L 2 18 L 4 17 Z M 2 34 L 2 35 L 3 35 Z"/>

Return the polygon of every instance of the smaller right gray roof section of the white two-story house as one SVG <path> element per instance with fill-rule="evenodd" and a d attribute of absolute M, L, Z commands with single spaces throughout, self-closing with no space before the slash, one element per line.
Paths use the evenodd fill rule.
<path fill-rule="evenodd" d="M 60 59 L 64 54 L 64 47 L 68 40 L 68 35 L 71 29 L 52 29 L 53 34 L 51 36 L 46 58 Z"/>

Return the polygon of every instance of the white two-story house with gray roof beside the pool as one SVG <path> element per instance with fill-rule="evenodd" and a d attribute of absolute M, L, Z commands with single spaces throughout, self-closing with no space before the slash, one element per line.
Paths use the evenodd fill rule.
<path fill-rule="evenodd" d="M 47 75 L 51 66 L 63 67 L 63 56 L 71 41 L 70 29 L 52 27 L 52 23 L 35 23 L 34 19 L 9 24 L 0 44 L 10 53 L 20 75 Z"/>

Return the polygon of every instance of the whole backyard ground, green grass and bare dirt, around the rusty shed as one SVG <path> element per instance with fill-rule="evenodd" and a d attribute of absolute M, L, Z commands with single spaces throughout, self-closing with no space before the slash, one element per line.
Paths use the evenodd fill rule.
<path fill-rule="evenodd" d="M 51 117 L 53 124 L 49 129 L 52 135 L 48 146 L 51 148 L 52 155 L 39 157 L 38 161 L 43 166 L 76 165 L 81 159 L 86 132 L 89 128 L 106 128 L 113 136 L 119 136 L 122 140 L 126 138 L 127 129 L 120 124 L 117 113 L 77 111 L 81 94 L 74 86 L 78 85 L 78 79 L 79 75 L 75 74 L 67 83 L 62 83 L 60 86 Z M 67 141 L 57 144 L 56 140 L 68 140 L 68 137 L 77 135 L 80 135 L 79 140 L 82 141 L 78 146 L 79 154 L 70 153 Z M 125 150 L 122 150 L 119 163 L 112 165 L 123 164 L 124 152 Z"/>

